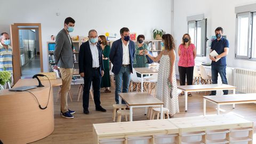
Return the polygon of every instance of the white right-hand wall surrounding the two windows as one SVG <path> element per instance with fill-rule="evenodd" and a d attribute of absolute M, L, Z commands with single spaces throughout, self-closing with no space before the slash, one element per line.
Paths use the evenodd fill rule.
<path fill-rule="evenodd" d="M 177 50 L 181 43 L 183 34 L 188 32 L 187 17 L 204 13 L 207 18 L 207 37 L 210 39 L 215 35 L 214 30 L 217 27 L 223 28 L 223 35 L 227 35 L 229 40 L 229 55 L 227 55 L 227 66 L 246 69 L 256 69 L 256 61 L 235 59 L 235 26 L 236 14 L 235 7 L 256 3 L 255 0 L 174 0 L 174 38 L 176 40 Z M 207 42 L 207 46 L 210 45 Z M 177 58 L 178 61 L 179 58 Z M 197 57 L 197 61 L 206 61 L 206 58 Z M 178 71 L 177 71 L 178 72 Z"/>

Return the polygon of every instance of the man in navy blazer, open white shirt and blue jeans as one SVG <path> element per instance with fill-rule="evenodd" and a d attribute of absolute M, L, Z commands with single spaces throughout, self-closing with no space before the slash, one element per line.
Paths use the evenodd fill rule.
<path fill-rule="evenodd" d="M 135 52 L 135 44 L 130 40 L 130 30 L 124 27 L 120 30 L 120 34 L 121 38 L 112 44 L 109 54 L 109 59 L 113 63 L 112 71 L 115 74 L 116 103 L 119 103 L 118 93 L 121 93 L 122 81 L 122 92 L 128 92 Z M 124 103 L 124 101 L 122 101 L 122 103 Z"/>

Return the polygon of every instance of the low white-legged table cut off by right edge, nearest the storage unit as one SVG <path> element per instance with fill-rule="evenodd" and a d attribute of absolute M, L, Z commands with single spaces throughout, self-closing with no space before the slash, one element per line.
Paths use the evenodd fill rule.
<path fill-rule="evenodd" d="M 203 96 L 203 98 L 204 98 L 204 115 L 206 115 L 206 101 L 215 103 L 217 105 L 217 115 L 219 115 L 220 105 L 230 105 L 234 103 L 253 103 L 253 102 L 256 102 L 256 93 L 213 95 L 213 96 Z"/>

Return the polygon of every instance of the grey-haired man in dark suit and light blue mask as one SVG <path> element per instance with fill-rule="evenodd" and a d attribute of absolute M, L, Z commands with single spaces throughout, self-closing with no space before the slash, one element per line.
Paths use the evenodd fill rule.
<path fill-rule="evenodd" d="M 84 77 L 83 108 L 84 114 L 89 112 L 89 91 L 91 83 L 93 86 L 93 99 L 97 111 L 106 112 L 107 110 L 100 106 L 100 81 L 104 75 L 102 49 L 98 42 L 97 31 L 89 31 L 89 41 L 83 43 L 79 49 L 79 74 Z"/>

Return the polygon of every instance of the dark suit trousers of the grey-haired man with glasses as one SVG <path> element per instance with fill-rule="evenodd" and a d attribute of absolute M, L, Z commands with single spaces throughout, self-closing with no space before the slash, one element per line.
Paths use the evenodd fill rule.
<path fill-rule="evenodd" d="M 89 107 L 89 92 L 91 89 L 91 83 L 93 86 L 93 99 L 95 107 L 100 107 L 100 69 L 92 68 L 92 75 L 89 77 L 84 77 L 84 92 L 83 92 L 83 108 L 87 109 Z"/>

